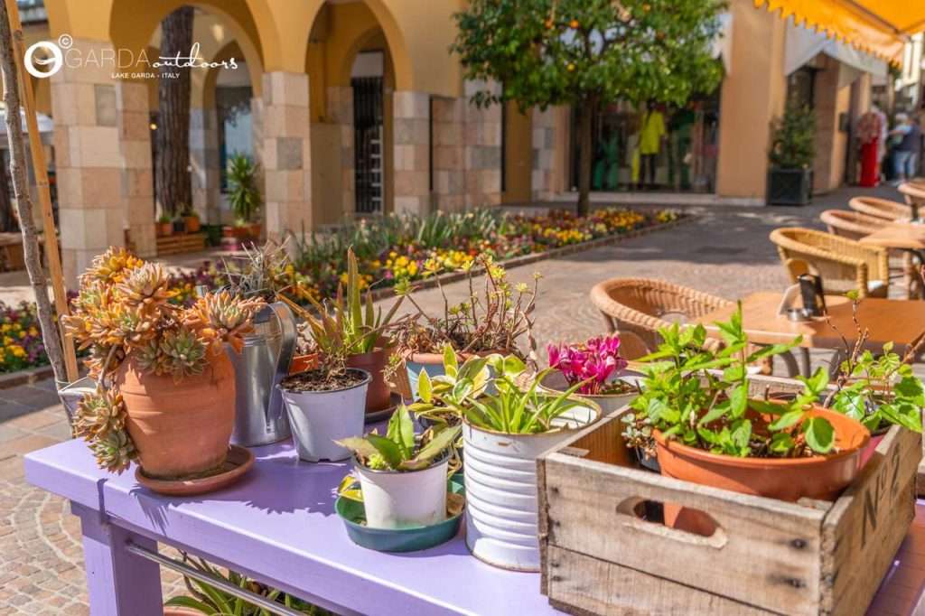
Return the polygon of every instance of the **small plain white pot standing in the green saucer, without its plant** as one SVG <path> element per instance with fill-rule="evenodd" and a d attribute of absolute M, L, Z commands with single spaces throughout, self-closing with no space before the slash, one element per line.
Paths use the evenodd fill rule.
<path fill-rule="evenodd" d="M 366 525 L 415 528 L 447 518 L 447 470 L 450 456 L 420 471 L 374 471 L 354 462 L 360 477 Z"/>

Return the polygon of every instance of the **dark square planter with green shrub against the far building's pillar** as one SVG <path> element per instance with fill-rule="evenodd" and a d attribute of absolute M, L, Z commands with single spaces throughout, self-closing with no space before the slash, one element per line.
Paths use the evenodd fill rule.
<path fill-rule="evenodd" d="M 808 106 L 790 105 L 772 130 L 768 203 L 806 205 L 812 200 L 816 116 Z"/>

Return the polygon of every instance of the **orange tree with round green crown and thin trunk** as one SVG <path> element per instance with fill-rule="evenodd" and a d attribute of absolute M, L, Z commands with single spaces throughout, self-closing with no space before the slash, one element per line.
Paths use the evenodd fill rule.
<path fill-rule="evenodd" d="M 592 117 L 618 100 L 682 105 L 722 77 L 710 53 L 724 0 L 471 0 L 451 50 L 468 80 L 495 81 L 475 105 L 578 111 L 579 214 L 591 187 Z"/>

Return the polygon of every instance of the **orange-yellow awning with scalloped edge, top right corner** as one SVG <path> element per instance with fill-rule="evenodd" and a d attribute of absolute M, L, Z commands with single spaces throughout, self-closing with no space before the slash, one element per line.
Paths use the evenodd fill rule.
<path fill-rule="evenodd" d="M 925 30 L 925 2 L 919 0 L 754 0 L 755 6 L 793 17 L 796 25 L 882 59 L 901 61 L 908 38 Z"/>

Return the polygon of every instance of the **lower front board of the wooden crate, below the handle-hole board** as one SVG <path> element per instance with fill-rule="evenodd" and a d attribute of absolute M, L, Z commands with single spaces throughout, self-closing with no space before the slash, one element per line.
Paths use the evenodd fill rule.
<path fill-rule="evenodd" d="M 646 546 L 638 547 L 648 551 Z M 655 553 L 652 552 L 654 556 Z M 549 603 L 572 614 L 709 614 L 710 616 L 770 616 L 780 612 L 720 597 L 672 580 L 653 578 L 613 562 L 600 561 L 568 549 L 549 547 L 553 573 Z M 675 566 L 685 567 L 682 560 Z M 584 609 L 573 606 L 582 605 Z"/>

